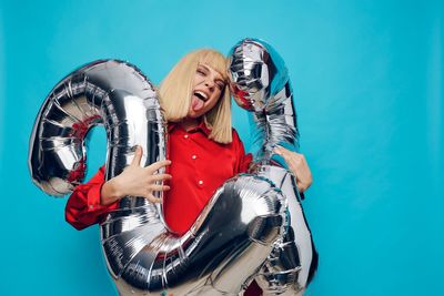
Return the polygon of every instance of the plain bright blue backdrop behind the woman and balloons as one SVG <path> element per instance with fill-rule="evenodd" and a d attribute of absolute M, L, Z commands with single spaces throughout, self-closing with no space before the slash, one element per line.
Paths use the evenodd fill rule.
<path fill-rule="evenodd" d="M 158 83 L 190 50 L 244 37 L 284 58 L 314 183 L 321 254 L 307 295 L 437 295 L 444 275 L 443 19 L 438 1 L 2 1 L 1 295 L 115 295 L 97 226 L 31 182 L 46 95 L 85 62 L 119 58 Z M 244 111 L 233 113 L 251 145 Z M 91 175 L 104 161 L 93 132 Z"/>

